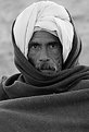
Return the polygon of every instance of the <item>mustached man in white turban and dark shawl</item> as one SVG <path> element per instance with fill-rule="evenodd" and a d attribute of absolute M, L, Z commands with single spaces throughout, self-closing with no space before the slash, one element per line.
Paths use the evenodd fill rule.
<path fill-rule="evenodd" d="M 89 68 L 78 63 L 81 41 L 68 11 L 33 3 L 14 21 L 12 40 L 21 73 L 1 82 L 0 131 L 88 132 Z"/>

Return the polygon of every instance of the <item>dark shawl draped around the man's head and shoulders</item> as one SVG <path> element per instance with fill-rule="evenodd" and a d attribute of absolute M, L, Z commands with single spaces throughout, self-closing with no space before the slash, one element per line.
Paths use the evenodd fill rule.
<path fill-rule="evenodd" d="M 46 76 L 17 48 L 12 28 L 21 73 L 2 82 L 7 100 L 0 101 L 0 132 L 89 132 L 89 68 L 78 65 L 81 43 L 74 32 L 63 70 Z"/>

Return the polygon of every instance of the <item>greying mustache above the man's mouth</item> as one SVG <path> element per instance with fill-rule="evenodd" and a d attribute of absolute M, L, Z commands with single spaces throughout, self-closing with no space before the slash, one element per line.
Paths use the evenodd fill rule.
<path fill-rule="evenodd" d="M 55 65 L 55 63 L 47 63 L 47 62 L 38 63 L 38 64 L 36 64 L 36 68 L 37 68 L 39 71 L 41 71 L 41 70 L 56 71 L 56 65 Z"/>

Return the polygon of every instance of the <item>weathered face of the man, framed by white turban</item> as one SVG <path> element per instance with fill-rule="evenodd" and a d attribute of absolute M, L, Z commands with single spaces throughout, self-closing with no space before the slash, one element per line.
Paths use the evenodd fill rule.
<path fill-rule="evenodd" d="M 28 47 L 28 60 L 44 74 L 62 70 L 62 46 L 58 37 L 40 31 L 35 32 Z"/>

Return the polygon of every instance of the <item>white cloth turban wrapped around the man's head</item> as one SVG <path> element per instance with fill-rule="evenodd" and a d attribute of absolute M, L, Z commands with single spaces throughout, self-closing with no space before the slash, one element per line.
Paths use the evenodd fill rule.
<path fill-rule="evenodd" d="M 56 33 L 63 46 L 63 59 L 66 60 L 73 44 L 74 29 L 64 7 L 52 1 L 40 1 L 26 8 L 16 19 L 13 28 L 17 47 L 27 58 L 28 43 L 35 29 L 42 28 Z"/>

